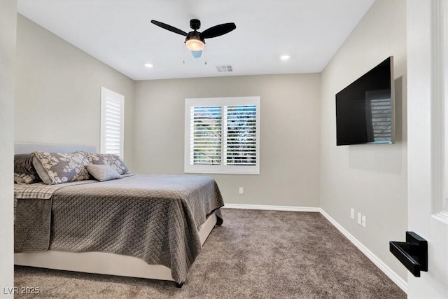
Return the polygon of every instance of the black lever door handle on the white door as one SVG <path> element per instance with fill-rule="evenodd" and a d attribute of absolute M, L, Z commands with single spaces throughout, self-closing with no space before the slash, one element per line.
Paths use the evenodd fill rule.
<path fill-rule="evenodd" d="M 415 232 L 406 232 L 406 242 L 389 242 L 391 253 L 407 267 L 415 277 L 420 271 L 428 271 L 428 242 Z"/>

